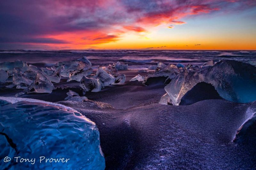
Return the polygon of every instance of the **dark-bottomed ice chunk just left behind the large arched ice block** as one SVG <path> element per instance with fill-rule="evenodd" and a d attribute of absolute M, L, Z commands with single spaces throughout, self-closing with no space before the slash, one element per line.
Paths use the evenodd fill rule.
<path fill-rule="evenodd" d="M 176 67 L 173 64 L 168 64 L 167 66 L 165 66 L 164 68 L 162 68 L 161 70 L 155 72 L 155 73 L 149 73 L 147 74 L 147 76 L 145 77 L 143 84 L 144 85 L 149 85 L 151 81 L 153 80 L 160 80 L 162 81 L 162 79 L 169 79 L 172 80 L 172 78 L 174 78 L 178 73 L 179 73 L 179 69 L 178 67 Z"/>

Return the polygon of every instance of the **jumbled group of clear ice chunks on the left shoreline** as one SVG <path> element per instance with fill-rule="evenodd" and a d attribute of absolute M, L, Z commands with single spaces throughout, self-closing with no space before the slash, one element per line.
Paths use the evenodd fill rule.
<path fill-rule="evenodd" d="M 54 89 L 52 83 L 59 83 L 61 77 L 68 77 L 67 81 L 79 81 L 85 91 L 100 91 L 110 84 L 125 82 L 125 75 L 118 74 L 118 69 L 128 69 L 127 64 L 117 62 L 113 66 L 100 67 L 94 76 L 91 67 L 92 63 L 86 57 L 58 62 L 46 68 L 37 68 L 20 60 L 3 62 L 0 63 L 0 83 L 6 88 L 24 89 L 24 92 L 16 94 L 20 96 L 24 93 L 51 93 Z"/>

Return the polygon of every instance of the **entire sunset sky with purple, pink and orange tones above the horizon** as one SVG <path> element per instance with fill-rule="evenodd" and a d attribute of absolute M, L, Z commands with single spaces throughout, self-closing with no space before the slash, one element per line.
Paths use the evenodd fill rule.
<path fill-rule="evenodd" d="M 256 0 L 0 1 L 0 50 L 256 50 Z"/>

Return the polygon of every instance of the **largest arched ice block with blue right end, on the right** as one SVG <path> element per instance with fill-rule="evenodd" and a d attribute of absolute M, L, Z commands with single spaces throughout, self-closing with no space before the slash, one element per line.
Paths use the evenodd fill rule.
<path fill-rule="evenodd" d="M 232 102 L 256 100 L 256 67 L 234 60 L 224 60 L 211 67 L 186 67 L 165 86 L 174 105 L 199 82 L 211 83 L 219 95 Z"/>

